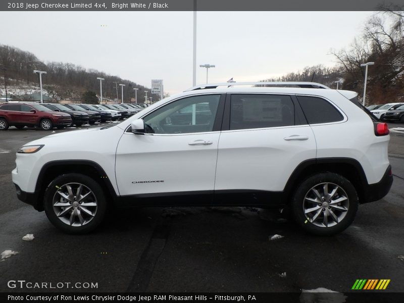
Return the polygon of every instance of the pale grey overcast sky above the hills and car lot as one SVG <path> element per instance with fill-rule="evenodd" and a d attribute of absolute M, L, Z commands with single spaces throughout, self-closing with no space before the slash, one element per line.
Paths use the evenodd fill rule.
<path fill-rule="evenodd" d="M 372 12 L 198 12 L 196 83 L 334 65 Z M 193 12 L 0 12 L 0 43 L 176 93 L 192 86 Z M 152 21 L 150 21 L 152 20 Z M 102 26 L 104 25 L 104 26 Z M 95 80 L 94 80 L 95 81 Z"/>

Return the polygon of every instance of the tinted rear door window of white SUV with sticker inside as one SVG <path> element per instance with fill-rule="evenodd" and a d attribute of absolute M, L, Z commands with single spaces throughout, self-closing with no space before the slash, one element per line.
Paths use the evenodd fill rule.
<path fill-rule="evenodd" d="M 230 130 L 294 125 L 294 106 L 285 95 L 232 94 Z"/>

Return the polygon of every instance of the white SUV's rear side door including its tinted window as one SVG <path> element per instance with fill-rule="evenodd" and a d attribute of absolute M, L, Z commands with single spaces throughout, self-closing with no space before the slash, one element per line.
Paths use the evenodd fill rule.
<path fill-rule="evenodd" d="M 215 202 L 279 204 L 293 170 L 315 158 L 316 140 L 294 95 L 228 94 Z"/>

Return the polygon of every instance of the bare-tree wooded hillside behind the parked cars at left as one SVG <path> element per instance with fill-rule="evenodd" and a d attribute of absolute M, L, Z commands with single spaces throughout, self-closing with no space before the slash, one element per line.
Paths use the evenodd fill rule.
<path fill-rule="evenodd" d="M 9 45 L 0 45 L 0 69 L 2 78 L 6 76 L 9 85 L 15 87 L 19 85 L 38 86 L 39 76 L 34 74 L 33 70 L 46 71 L 47 74 L 42 76 L 43 88 L 56 92 L 61 99 L 78 100 L 86 91 L 99 94 L 99 80 L 96 79 L 97 77 L 105 79 L 103 81 L 103 97 L 121 99 L 119 84 L 125 84 L 124 100 L 126 101 L 135 97 L 133 88 L 138 88 L 138 102 L 144 100 L 144 91 L 147 90 L 148 95 L 151 95 L 148 88 L 130 80 L 94 69 L 85 69 L 72 63 L 44 63 L 38 60 L 34 54 Z M 0 85 L 3 85 L 3 83 Z"/>

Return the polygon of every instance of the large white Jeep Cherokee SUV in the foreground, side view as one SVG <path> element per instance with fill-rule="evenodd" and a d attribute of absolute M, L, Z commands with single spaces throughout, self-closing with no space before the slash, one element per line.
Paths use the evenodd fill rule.
<path fill-rule="evenodd" d="M 244 84 L 255 86 L 197 86 L 115 126 L 29 142 L 12 172 L 17 195 L 68 233 L 93 230 L 109 206 L 227 205 L 287 208 L 330 235 L 387 194 L 388 127 L 357 93 Z"/>

